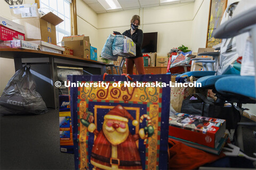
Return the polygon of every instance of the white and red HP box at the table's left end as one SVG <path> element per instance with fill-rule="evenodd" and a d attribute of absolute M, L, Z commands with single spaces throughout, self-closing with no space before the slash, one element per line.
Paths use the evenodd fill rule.
<path fill-rule="evenodd" d="M 0 16 L 0 40 L 25 40 L 25 28 L 23 25 Z"/>

